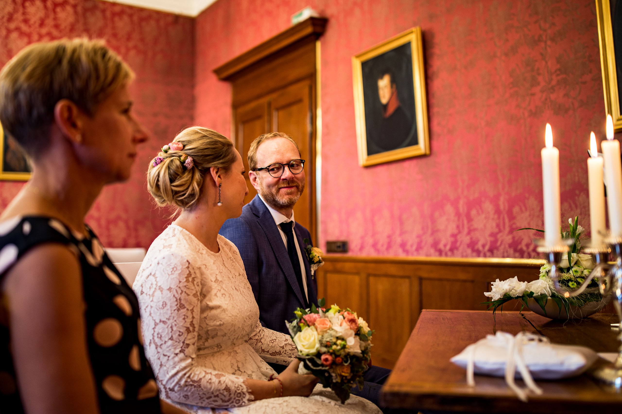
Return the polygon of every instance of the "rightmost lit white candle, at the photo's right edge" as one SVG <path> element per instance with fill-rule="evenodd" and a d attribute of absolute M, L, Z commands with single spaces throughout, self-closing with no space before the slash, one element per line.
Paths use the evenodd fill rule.
<path fill-rule="evenodd" d="M 605 159 L 605 183 L 607 184 L 607 207 L 612 237 L 622 236 L 622 165 L 620 165 L 620 142 L 613 139 L 613 121 L 607 115 L 607 140 L 600 143 Z"/>

